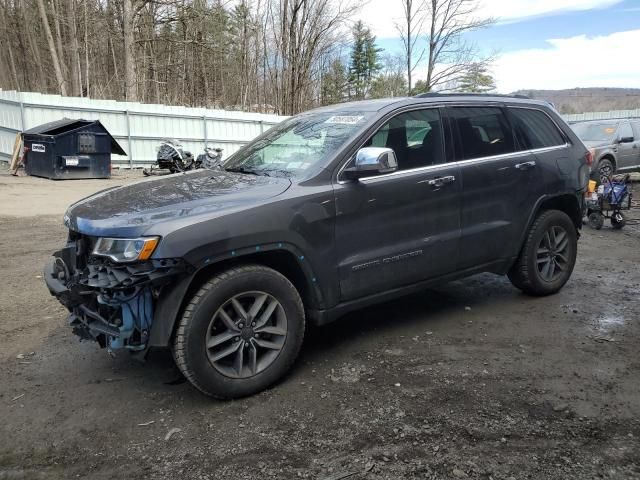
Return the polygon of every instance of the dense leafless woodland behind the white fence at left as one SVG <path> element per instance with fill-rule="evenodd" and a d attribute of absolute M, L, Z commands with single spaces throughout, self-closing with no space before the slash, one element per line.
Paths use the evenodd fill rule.
<path fill-rule="evenodd" d="M 0 88 L 297 113 L 320 102 L 342 3 L 0 0 Z"/>

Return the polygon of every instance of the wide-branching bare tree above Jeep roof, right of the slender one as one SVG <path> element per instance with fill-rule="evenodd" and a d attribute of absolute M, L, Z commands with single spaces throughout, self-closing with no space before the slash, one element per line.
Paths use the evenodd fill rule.
<path fill-rule="evenodd" d="M 494 23 L 492 18 L 477 18 L 477 0 L 429 0 L 428 64 L 425 89 L 455 83 L 471 66 L 490 63 L 482 58 L 463 34 Z"/>

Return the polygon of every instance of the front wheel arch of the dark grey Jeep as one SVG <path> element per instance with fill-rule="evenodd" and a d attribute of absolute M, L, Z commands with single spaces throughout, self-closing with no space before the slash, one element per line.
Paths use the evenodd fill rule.
<path fill-rule="evenodd" d="M 296 247 L 279 243 L 263 245 L 260 251 L 255 251 L 255 247 L 251 251 L 237 250 L 225 257 L 207 262 L 191 275 L 166 287 L 166 292 L 161 292 L 155 306 L 149 346 L 169 345 L 177 320 L 188 300 L 207 280 L 229 268 L 249 264 L 264 265 L 284 275 L 298 290 L 305 309 L 322 307 L 323 296 L 316 277 L 308 262 L 305 262 L 304 255 Z"/>

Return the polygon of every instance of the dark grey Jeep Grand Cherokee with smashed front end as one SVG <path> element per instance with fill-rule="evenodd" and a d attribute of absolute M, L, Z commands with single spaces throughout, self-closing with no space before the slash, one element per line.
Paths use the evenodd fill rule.
<path fill-rule="evenodd" d="M 220 171 L 72 205 L 45 278 L 81 338 L 139 355 L 169 347 L 205 394 L 249 395 L 291 367 L 307 322 L 479 272 L 557 292 L 576 260 L 589 162 L 543 102 L 321 108 Z"/>

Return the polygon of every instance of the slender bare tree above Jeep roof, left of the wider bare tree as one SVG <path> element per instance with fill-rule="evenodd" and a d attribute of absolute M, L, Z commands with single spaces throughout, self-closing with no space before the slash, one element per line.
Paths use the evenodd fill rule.
<path fill-rule="evenodd" d="M 427 5 L 425 2 L 426 0 L 402 0 L 404 13 L 403 23 L 396 23 L 395 25 L 404 47 L 407 68 L 407 93 L 409 95 L 411 95 L 411 88 L 413 86 L 413 71 L 422 61 L 426 52 L 426 48 L 416 49 L 418 40 L 420 40 L 421 35 L 424 33 L 423 27 L 427 19 Z"/>

